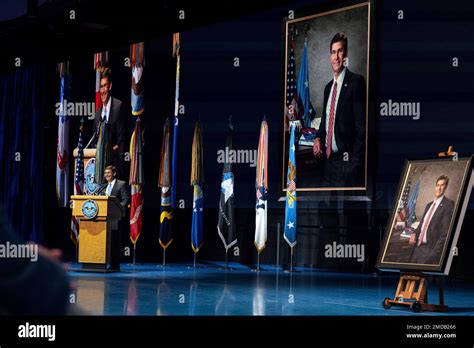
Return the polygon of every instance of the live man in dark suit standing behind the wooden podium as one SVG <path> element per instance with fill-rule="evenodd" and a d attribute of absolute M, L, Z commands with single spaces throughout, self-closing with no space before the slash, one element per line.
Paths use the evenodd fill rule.
<path fill-rule="evenodd" d="M 117 169 L 114 166 L 107 166 L 104 171 L 107 183 L 102 185 L 100 191 L 102 195 L 117 197 L 122 207 L 126 210 L 130 203 L 129 188 L 125 181 L 118 180 L 116 176 Z M 120 270 L 121 236 L 126 224 L 126 221 L 123 220 L 119 222 L 118 230 L 112 233 L 110 241 L 110 269 L 114 271 Z"/>

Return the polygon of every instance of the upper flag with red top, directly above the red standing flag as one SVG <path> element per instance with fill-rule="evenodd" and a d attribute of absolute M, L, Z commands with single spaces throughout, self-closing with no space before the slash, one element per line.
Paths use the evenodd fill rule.
<path fill-rule="evenodd" d="M 132 114 L 139 116 L 145 110 L 143 68 L 145 66 L 145 44 L 143 42 L 130 46 L 130 62 L 132 68 Z"/>

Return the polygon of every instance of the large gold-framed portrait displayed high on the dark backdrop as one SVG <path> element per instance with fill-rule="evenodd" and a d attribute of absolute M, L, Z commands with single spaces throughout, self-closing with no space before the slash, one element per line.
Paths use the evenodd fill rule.
<path fill-rule="evenodd" d="M 285 21 L 282 191 L 296 123 L 296 190 L 366 195 L 372 17 L 365 1 Z"/>

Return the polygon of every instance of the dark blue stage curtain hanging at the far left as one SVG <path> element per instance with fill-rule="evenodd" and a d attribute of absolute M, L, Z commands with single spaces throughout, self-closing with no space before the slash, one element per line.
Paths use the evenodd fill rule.
<path fill-rule="evenodd" d="M 21 239 L 43 241 L 44 79 L 39 65 L 0 75 L 0 207 Z"/>

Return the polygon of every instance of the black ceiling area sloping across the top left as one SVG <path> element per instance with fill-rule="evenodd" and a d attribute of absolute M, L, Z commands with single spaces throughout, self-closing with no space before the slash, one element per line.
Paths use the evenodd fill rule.
<path fill-rule="evenodd" d="M 231 0 L 28 0 L 25 15 L 0 22 L 7 59 L 62 59 L 84 51 L 111 49 L 124 43 L 226 21 L 294 1 Z M 75 19 L 70 18 L 71 10 Z M 185 20 L 179 19 L 184 10 Z M 104 44 L 104 37 L 107 38 Z"/>

